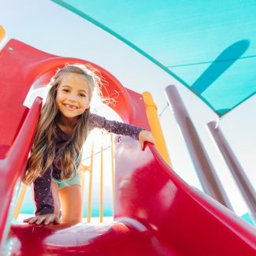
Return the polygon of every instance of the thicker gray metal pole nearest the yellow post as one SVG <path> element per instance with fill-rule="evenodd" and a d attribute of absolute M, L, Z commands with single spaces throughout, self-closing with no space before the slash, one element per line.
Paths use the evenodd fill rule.
<path fill-rule="evenodd" d="M 165 88 L 165 94 L 167 95 L 169 106 L 173 107 L 176 122 L 180 126 L 184 140 L 187 143 L 187 148 L 191 154 L 191 160 L 195 165 L 203 191 L 230 210 L 233 210 L 228 196 L 217 177 L 217 173 L 213 169 L 210 158 L 198 137 L 189 113 L 187 113 L 184 102 L 180 98 L 179 92 L 174 85 L 169 85 Z"/>

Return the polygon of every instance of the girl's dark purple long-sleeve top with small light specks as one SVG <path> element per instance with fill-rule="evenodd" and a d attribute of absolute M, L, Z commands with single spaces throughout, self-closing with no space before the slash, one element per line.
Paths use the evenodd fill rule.
<path fill-rule="evenodd" d="M 61 180 L 61 169 L 58 169 L 56 161 L 58 158 L 58 151 L 71 138 L 55 125 L 56 128 L 56 142 L 55 142 L 55 158 L 53 164 L 46 170 L 42 177 L 38 177 L 34 182 L 34 199 L 35 199 L 35 215 L 42 215 L 47 213 L 54 213 L 54 198 L 51 190 L 51 180 L 54 177 Z M 109 121 L 105 117 L 98 116 L 91 113 L 89 116 L 89 130 L 93 128 L 103 128 L 107 132 L 113 132 L 119 135 L 129 135 L 134 139 L 139 138 L 139 132 L 143 129 L 133 126 L 131 124 L 124 124 L 118 121 Z M 76 167 L 80 164 L 80 157 L 76 158 Z"/>

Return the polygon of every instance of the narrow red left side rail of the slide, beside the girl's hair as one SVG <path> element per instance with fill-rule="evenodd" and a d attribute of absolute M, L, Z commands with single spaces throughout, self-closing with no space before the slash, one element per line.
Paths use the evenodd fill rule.
<path fill-rule="evenodd" d="M 24 173 L 41 106 L 42 99 L 36 98 L 32 108 L 28 111 L 24 124 L 20 128 L 20 133 L 9 148 L 6 158 L 0 160 L 0 180 L 2 180 L 0 189 L 1 247 L 5 243 L 6 237 L 4 236 L 9 228 L 8 216 L 13 191 L 16 188 L 17 180 L 20 180 L 22 173 Z"/>

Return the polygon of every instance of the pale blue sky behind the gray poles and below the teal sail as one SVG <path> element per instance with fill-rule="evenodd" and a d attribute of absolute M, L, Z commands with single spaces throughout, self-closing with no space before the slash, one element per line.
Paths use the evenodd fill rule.
<path fill-rule="evenodd" d="M 247 212 L 247 206 L 231 174 L 206 132 L 205 124 L 217 121 L 217 116 L 187 88 L 112 35 L 54 2 L 1 0 L 0 3 L 0 24 L 6 29 L 7 40 L 19 39 L 50 54 L 94 62 L 116 76 L 124 87 L 139 93 L 150 91 L 154 95 L 158 113 L 166 106 L 165 87 L 175 84 L 213 161 L 214 168 L 224 184 L 234 210 L 239 215 Z M 220 124 L 254 188 L 256 188 L 255 117 L 254 95 L 225 115 Z M 188 184 L 201 189 L 187 147 L 169 108 L 165 109 L 160 120 L 173 161 L 173 169 Z"/>

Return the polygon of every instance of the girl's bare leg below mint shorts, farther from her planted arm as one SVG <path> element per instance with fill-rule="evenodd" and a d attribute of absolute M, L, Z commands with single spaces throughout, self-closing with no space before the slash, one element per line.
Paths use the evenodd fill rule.
<path fill-rule="evenodd" d="M 80 185 L 62 187 L 58 190 L 61 199 L 61 223 L 82 222 L 82 193 Z"/>

